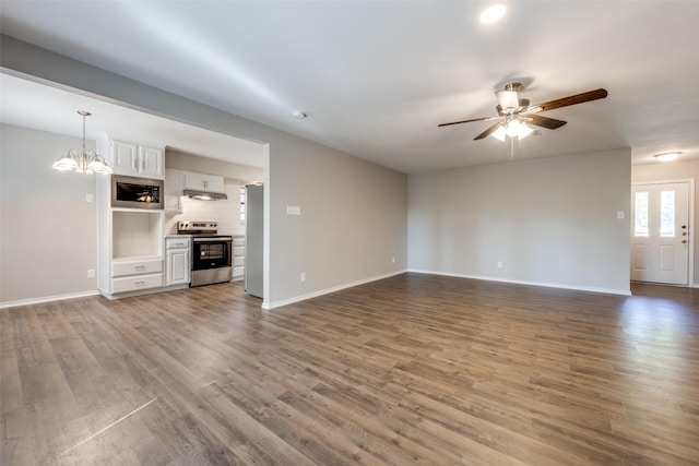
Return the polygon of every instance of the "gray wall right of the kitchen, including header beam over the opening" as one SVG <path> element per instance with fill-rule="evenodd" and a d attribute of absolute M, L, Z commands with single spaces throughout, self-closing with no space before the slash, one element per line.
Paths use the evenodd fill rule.
<path fill-rule="evenodd" d="M 0 46 L 2 67 L 20 75 L 269 143 L 269 306 L 406 268 L 405 175 L 11 37 Z M 301 216 L 287 216 L 287 205 Z"/>

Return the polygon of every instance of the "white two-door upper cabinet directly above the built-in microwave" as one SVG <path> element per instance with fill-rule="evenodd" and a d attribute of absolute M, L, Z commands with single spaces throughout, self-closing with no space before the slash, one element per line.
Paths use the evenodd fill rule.
<path fill-rule="evenodd" d="M 163 148 L 111 141 L 111 169 L 117 175 L 163 178 Z"/>

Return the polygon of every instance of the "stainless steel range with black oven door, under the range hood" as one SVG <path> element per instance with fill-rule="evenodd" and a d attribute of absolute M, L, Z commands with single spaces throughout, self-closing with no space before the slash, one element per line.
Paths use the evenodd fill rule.
<path fill-rule="evenodd" d="M 211 285 L 233 279 L 233 237 L 217 235 L 216 222 L 179 222 L 177 231 L 191 235 L 191 284 Z"/>

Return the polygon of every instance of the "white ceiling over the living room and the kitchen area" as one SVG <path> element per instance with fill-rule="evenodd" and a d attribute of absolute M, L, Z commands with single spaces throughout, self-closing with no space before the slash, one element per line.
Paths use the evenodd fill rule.
<path fill-rule="evenodd" d="M 635 164 L 656 163 L 653 155 L 667 151 L 699 158 L 699 2 L 506 4 L 502 21 L 483 25 L 477 16 L 486 2 L 479 1 L 3 0 L 0 27 L 407 174 L 621 147 L 631 148 Z M 12 122 L 23 106 L 5 97 L 14 85 L 38 84 L 10 77 L 2 81 L 2 118 Z M 609 94 L 546 112 L 568 124 L 521 143 L 473 141 L 489 121 L 437 128 L 495 116 L 494 92 L 512 81 L 524 84 L 521 96 L 532 104 L 597 87 Z M 43 99 L 44 111 L 48 103 L 63 112 L 61 121 L 43 124 L 70 121 L 81 129 L 66 111 L 87 103 L 78 108 L 66 98 Z M 38 118 L 24 111 L 24 120 Z M 105 109 L 94 127 L 135 118 L 132 111 Z M 295 111 L 308 118 L 296 119 Z M 152 134 L 158 126 L 165 120 Z M 217 156 L 222 147 L 204 141 L 232 140 L 199 131 L 192 127 L 185 138 L 178 127 L 170 134 L 180 140 L 170 145 Z M 251 144 L 247 165 L 260 166 L 252 155 L 259 146 L 240 144 Z"/>

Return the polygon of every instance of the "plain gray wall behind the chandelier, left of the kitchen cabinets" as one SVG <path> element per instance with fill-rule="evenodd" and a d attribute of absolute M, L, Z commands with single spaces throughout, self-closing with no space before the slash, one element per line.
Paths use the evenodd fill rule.
<path fill-rule="evenodd" d="M 97 266 L 94 176 L 51 164 L 80 139 L 1 124 L 0 303 L 94 294 Z M 88 151 L 95 150 L 87 141 Z"/>

